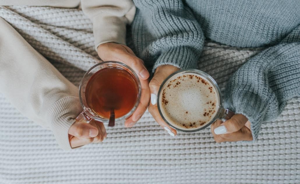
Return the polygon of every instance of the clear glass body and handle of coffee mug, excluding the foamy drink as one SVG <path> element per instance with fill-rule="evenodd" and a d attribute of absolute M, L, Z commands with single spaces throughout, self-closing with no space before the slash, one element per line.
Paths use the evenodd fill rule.
<path fill-rule="evenodd" d="M 161 103 L 161 96 L 163 93 L 163 89 L 164 87 L 169 84 L 169 82 L 173 79 L 173 76 L 181 76 L 184 74 L 196 74 L 197 76 L 202 77 L 203 79 L 209 81 L 212 84 L 212 87 L 215 89 L 215 91 L 217 92 L 217 101 L 219 102 L 217 108 L 217 113 L 215 113 L 214 117 L 212 117 L 210 122 L 206 122 L 205 125 L 199 127 L 198 129 L 180 129 L 179 127 L 173 126 L 171 123 L 169 123 L 166 118 L 164 117 L 164 114 L 161 111 L 161 107 L 160 107 L 160 103 Z M 158 90 L 158 96 L 157 96 L 157 106 L 158 106 L 158 111 L 159 114 L 161 115 L 161 117 L 164 119 L 164 121 L 170 125 L 171 127 L 173 127 L 176 130 L 182 131 L 182 132 L 196 132 L 202 129 L 205 129 L 206 127 L 208 127 L 209 125 L 211 125 L 215 120 L 221 120 L 221 121 L 226 121 L 229 120 L 235 113 L 233 111 L 230 111 L 229 109 L 223 108 L 223 106 L 221 105 L 221 97 L 220 97 L 220 88 L 218 87 L 216 81 L 207 73 L 201 71 L 201 70 L 196 70 L 196 69 L 185 69 L 185 70 L 178 70 L 174 73 L 172 73 L 170 76 L 168 76 L 164 82 L 161 84 L 159 90 Z"/>

